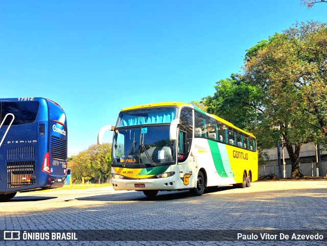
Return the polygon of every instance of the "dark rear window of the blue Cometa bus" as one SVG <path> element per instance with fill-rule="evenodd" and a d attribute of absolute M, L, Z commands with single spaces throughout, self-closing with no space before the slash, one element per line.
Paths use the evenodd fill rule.
<path fill-rule="evenodd" d="M 34 122 L 39 109 L 39 102 L 4 102 L 1 103 L 0 121 L 3 126 L 22 125 Z"/>

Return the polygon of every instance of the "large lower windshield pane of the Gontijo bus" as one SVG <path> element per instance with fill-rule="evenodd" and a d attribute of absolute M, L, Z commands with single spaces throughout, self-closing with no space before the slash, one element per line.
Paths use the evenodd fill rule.
<path fill-rule="evenodd" d="M 169 140 L 169 126 L 117 129 L 113 136 L 113 164 L 129 167 L 172 164 L 175 142 Z"/>

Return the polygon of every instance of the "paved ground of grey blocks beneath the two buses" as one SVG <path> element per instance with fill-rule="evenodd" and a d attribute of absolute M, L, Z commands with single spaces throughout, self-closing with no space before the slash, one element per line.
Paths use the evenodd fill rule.
<path fill-rule="evenodd" d="M 202 196 L 188 191 L 159 192 L 154 199 L 143 192 L 114 191 L 110 187 L 18 193 L 0 203 L 2 230 L 327 230 L 327 181 L 257 181 L 251 187 L 222 186 Z M 157 231 L 160 234 L 160 231 Z M 173 231 L 172 231 L 173 232 Z M 199 242 L 185 232 L 185 241 L 106 241 L 110 245 L 230 244 Z M 189 233 L 188 233 L 189 232 Z M 202 231 L 201 231 L 202 232 Z M 223 231 L 224 232 L 224 231 Z M 158 234 L 158 235 L 159 235 Z M 173 238 L 174 234 L 172 234 Z M 201 235 L 200 235 L 201 237 Z M 187 238 L 190 238 L 189 241 Z M 327 238 L 327 237 L 326 237 Z M 144 238 L 145 239 L 145 238 Z M 144 240 L 143 239 L 143 240 Z M 140 236 L 142 240 L 142 235 Z M 324 241 L 327 242 L 327 241 Z M 7 245 L 25 245 L 6 241 Z M 44 241 L 32 244 L 45 245 Z M 53 245 L 88 245 L 86 241 L 51 241 Z M 95 241 L 92 244 L 101 245 Z M 234 241 L 244 244 L 244 241 Z M 247 241 L 262 244 L 263 241 Z M 279 241 L 278 244 L 302 244 Z M 27 243 L 27 244 L 31 244 Z M 275 245 L 274 241 L 265 244 Z M 320 245 L 321 241 L 310 241 Z"/>

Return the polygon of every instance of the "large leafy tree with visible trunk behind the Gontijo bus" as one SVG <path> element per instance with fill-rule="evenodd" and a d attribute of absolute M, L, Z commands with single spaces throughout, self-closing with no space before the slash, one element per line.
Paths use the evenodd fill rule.
<path fill-rule="evenodd" d="M 326 44 L 325 24 L 296 23 L 247 50 L 243 74 L 221 80 L 204 99 L 209 111 L 252 127 L 262 147 L 283 136 L 292 177 L 301 176 L 302 143 L 327 136 Z"/>

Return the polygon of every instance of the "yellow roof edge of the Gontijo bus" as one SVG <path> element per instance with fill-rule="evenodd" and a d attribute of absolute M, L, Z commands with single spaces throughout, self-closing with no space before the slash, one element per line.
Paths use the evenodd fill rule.
<path fill-rule="evenodd" d="M 234 128 L 235 130 L 238 130 L 238 131 L 241 131 L 243 133 L 246 133 L 248 135 L 250 135 L 251 137 L 254 137 L 254 135 L 252 133 L 249 133 L 249 132 L 246 132 L 236 126 L 234 126 L 233 124 L 231 124 L 230 122 L 228 122 L 227 120 L 223 119 L 223 118 L 220 118 L 218 117 L 217 115 L 214 115 L 214 114 L 209 114 L 205 111 L 203 111 L 202 109 L 199 109 L 189 103 L 181 103 L 181 102 L 165 102 L 165 103 L 150 103 L 150 104 L 142 104 L 142 105 L 136 105 L 136 106 L 132 106 L 132 107 L 128 107 L 128 108 L 125 108 L 125 109 L 122 109 L 121 112 L 124 112 L 124 111 L 128 111 L 128 110 L 134 110 L 134 109 L 142 109 L 142 108 L 152 108 L 152 107 L 161 107 L 161 106 L 177 106 L 177 107 L 181 107 L 181 106 L 189 106 L 193 109 L 195 109 L 196 111 L 198 112 L 201 112 L 209 117 L 212 117 L 212 118 L 215 118 L 216 120 L 222 122 L 223 124 L 225 124 L 226 126 L 229 126 L 229 127 L 232 127 Z M 254 137 L 255 138 L 255 137 Z"/>

